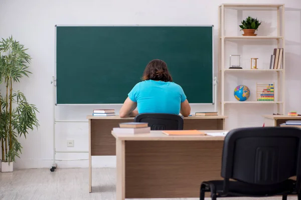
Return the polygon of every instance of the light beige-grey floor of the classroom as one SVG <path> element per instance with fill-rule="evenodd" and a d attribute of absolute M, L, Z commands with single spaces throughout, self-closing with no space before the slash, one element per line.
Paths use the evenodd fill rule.
<path fill-rule="evenodd" d="M 17 169 L 11 173 L 0 172 L 1 200 L 114 200 L 115 168 L 93 168 L 92 193 L 88 192 L 87 168 L 57 168 L 51 172 L 42 169 Z M 198 198 L 173 198 L 173 200 L 197 200 Z M 210 198 L 206 198 L 210 199 Z M 270 198 L 222 198 L 225 200 L 273 200 Z M 296 200 L 296 197 L 289 197 Z M 138 200 L 138 199 L 135 199 Z M 147 199 L 151 200 L 151 199 Z M 167 199 L 152 199 L 167 200 Z"/>

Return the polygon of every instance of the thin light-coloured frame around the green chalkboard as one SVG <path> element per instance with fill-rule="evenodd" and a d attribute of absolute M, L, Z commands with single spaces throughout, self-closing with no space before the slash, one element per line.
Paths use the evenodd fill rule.
<path fill-rule="evenodd" d="M 56 77 L 57 77 L 57 30 L 56 28 L 58 26 L 211 26 L 212 27 L 212 103 L 190 103 L 190 104 L 212 104 L 214 105 L 216 102 L 216 96 L 217 96 L 217 82 L 216 82 L 216 76 L 214 74 L 214 25 L 142 25 L 142 24 L 133 24 L 133 25 L 127 25 L 127 24 L 114 24 L 114 25 L 55 25 L 55 76 L 54 76 L 54 100 L 55 105 L 121 105 L 122 103 L 57 103 L 57 84 L 56 84 Z"/>

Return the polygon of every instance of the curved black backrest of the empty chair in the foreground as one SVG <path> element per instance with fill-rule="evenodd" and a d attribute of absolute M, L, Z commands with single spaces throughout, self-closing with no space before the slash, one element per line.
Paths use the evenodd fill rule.
<path fill-rule="evenodd" d="M 301 129 L 294 127 L 238 128 L 225 136 L 222 154 L 224 191 L 229 178 L 246 183 L 275 184 L 301 177 Z"/>

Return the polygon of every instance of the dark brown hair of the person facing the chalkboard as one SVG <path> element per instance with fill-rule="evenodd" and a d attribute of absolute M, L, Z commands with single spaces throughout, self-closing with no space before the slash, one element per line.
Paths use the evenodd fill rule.
<path fill-rule="evenodd" d="M 169 73 L 167 64 L 161 59 L 153 59 L 146 65 L 142 80 L 161 80 L 172 82 L 172 75 Z"/>

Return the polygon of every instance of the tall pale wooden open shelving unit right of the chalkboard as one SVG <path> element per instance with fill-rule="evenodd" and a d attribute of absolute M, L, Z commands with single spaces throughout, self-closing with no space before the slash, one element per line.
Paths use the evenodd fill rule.
<path fill-rule="evenodd" d="M 276 10 L 277 12 L 277 34 L 275 36 L 268 35 L 256 35 L 256 36 L 242 36 L 242 35 L 226 35 L 225 34 L 225 8 L 234 8 L 234 9 L 246 9 L 246 10 Z M 284 103 L 284 82 L 285 82 L 285 48 L 284 48 L 284 4 L 235 4 L 235 3 L 223 3 L 219 5 L 219 57 L 218 57 L 218 67 L 219 67 L 219 93 L 220 102 L 221 102 L 221 115 L 225 115 L 225 106 L 227 104 L 275 104 L 277 113 L 284 113 L 285 111 L 285 103 Z M 242 19 L 241 19 L 242 20 Z M 237 28 L 239 28 L 237 24 Z M 260 26 L 259 26 L 260 28 Z M 251 69 L 251 68 L 243 68 L 243 69 L 233 69 L 229 68 L 229 64 L 225 62 L 225 56 L 228 56 L 229 52 L 225 52 L 226 41 L 228 40 L 275 40 L 277 42 L 277 48 L 283 48 L 282 55 L 282 68 L 281 69 Z M 242 42 L 243 42 L 242 41 Z M 260 42 L 258 42 L 260 45 Z M 271 46 L 271 49 L 274 47 Z M 231 54 L 231 53 L 230 53 Z M 268 68 L 268 66 L 266 66 Z M 225 88 L 228 86 L 225 84 L 225 77 L 227 75 L 236 75 L 239 73 L 241 77 L 244 74 L 253 74 L 254 84 L 256 83 L 256 75 L 258 73 L 265 74 L 274 74 L 276 73 L 276 84 L 274 85 L 274 89 L 276 91 L 276 95 L 274 96 L 274 101 L 257 101 L 257 100 L 246 100 L 246 101 L 238 101 L 238 100 L 229 100 L 225 99 Z M 281 80 L 281 81 L 280 81 Z M 239 82 L 237 85 L 240 84 Z M 254 93 L 254 92 L 253 92 Z"/>

